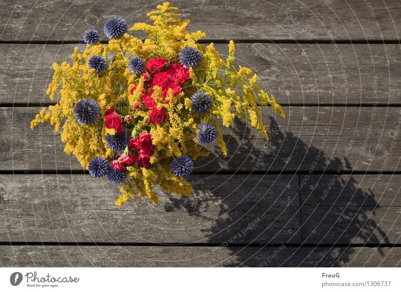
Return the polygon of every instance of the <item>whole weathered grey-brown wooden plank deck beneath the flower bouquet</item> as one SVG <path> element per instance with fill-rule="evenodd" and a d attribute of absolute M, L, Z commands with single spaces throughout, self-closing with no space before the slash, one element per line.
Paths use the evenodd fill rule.
<path fill-rule="evenodd" d="M 287 118 L 263 109 L 269 143 L 224 128 L 230 155 L 195 162 L 192 198 L 116 207 L 29 124 L 85 29 L 155 6 L 0 3 L 0 266 L 401 266 L 401 2 L 170 2 L 222 55 L 235 39 Z"/>

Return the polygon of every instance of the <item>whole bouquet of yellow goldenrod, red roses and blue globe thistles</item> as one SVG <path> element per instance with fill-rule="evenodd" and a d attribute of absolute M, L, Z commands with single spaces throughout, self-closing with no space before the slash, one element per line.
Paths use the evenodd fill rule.
<path fill-rule="evenodd" d="M 59 102 L 42 108 L 31 123 L 62 128 L 67 154 L 93 177 L 121 185 L 118 206 L 137 194 L 157 204 L 155 186 L 190 196 L 185 178 L 194 160 L 209 155 L 204 144 L 216 141 L 227 155 L 219 119 L 228 127 L 236 116 L 247 118 L 268 139 L 258 106 L 285 117 L 251 69 L 232 65 L 233 41 L 223 60 L 213 43 L 197 43 L 205 33 L 189 33 L 189 20 L 181 21 L 175 10 L 159 5 L 147 15 L 153 25 L 129 29 L 122 18 L 111 18 L 104 25 L 108 44 L 96 30 L 85 31 L 86 49 L 75 48 L 72 65 L 53 64 L 47 94 L 53 100 L 59 92 Z"/>

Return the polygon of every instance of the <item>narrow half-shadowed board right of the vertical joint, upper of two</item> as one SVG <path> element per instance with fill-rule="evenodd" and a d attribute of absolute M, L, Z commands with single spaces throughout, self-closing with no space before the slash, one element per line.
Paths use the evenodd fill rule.
<path fill-rule="evenodd" d="M 300 175 L 301 200 L 312 206 L 401 206 L 399 175 Z"/>

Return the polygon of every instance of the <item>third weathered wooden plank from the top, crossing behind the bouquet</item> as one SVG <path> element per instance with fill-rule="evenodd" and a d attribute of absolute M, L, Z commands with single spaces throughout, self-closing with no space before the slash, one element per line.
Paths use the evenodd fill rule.
<path fill-rule="evenodd" d="M 263 109 L 271 140 L 245 122 L 223 127 L 229 156 L 209 145 L 211 156 L 195 162 L 196 172 L 217 171 L 392 171 L 401 149 L 399 107 L 285 107 L 288 118 Z M 0 108 L 0 170 L 82 170 L 49 125 L 29 124 L 39 107 Z M 373 118 L 372 118 L 373 115 Z M 275 119 L 277 118 L 277 120 Z M 394 144 L 395 142 L 395 144 Z"/>

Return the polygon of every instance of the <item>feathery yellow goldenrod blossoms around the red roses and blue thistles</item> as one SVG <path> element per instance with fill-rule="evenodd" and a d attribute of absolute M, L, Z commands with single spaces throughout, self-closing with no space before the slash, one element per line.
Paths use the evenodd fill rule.
<path fill-rule="evenodd" d="M 34 128 L 38 123 L 49 121 L 56 131 L 61 130 L 65 152 L 76 156 L 86 169 L 95 157 L 107 161 L 116 159 L 116 153 L 108 147 L 106 139 L 107 135 L 116 134 L 115 129 L 105 126 L 108 109 L 116 108 L 120 114 L 129 115 L 135 121 L 132 137 L 143 130 L 150 133 L 153 145 L 151 167 L 126 167 L 127 179 L 123 181 L 121 195 L 115 202 L 118 206 L 136 195 L 148 197 L 157 204 L 155 186 L 169 193 L 190 196 L 190 184 L 172 172 L 171 161 L 183 155 L 190 156 L 192 160 L 209 155 L 197 142 L 200 123 L 216 127 L 216 140 L 227 155 L 218 126 L 219 119 L 228 127 L 236 117 L 248 118 L 251 125 L 268 139 L 259 106 L 270 106 L 285 117 L 275 97 L 260 90 L 257 75 L 251 69 L 232 65 L 235 60 L 233 41 L 229 43 L 229 56 L 223 60 L 213 43 L 208 46 L 197 43 L 197 40 L 206 37 L 205 33 L 189 33 L 186 30 L 189 20 L 180 20 L 180 14 L 174 13 L 176 10 L 169 3 L 158 5 L 156 11 L 148 13 L 153 24 L 136 23 L 128 29 L 147 33 L 148 38 L 144 41 L 126 33 L 122 38 L 110 40 L 107 45 L 87 45 L 83 52 L 75 48 L 72 64 L 54 64 L 55 73 L 47 94 L 51 100 L 58 92 L 61 97 L 56 105 L 43 108 L 31 123 Z M 162 57 L 177 62 L 180 52 L 186 47 L 196 48 L 202 54 L 202 62 L 195 68 L 189 67 L 190 79 L 185 81 L 180 93 L 174 95 L 168 89 L 163 96 L 162 88 L 153 87 L 151 97 L 155 108 L 164 109 L 168 119 L 157 124 L 150 123 L 149 110 L 143 107 L 134 109 L 143 98 L 146 80 L 128 69 L 130 58 L 137 56 L 148 61 Z M 89 59 L 94 55 L 108 60 L 107 70 L 100 75 L 88 67 Z M 135 86 L 131 93 L 131 88 Z M 204 92 L 211 97 L 212 106 L 208 114 L 193 112 L 190 97 L 196 92 Z M 79 123 L 74 115 L 75 105 L 84 99 L 96 101 L 100 108 L 100 118 L 92 124 Z"/>

